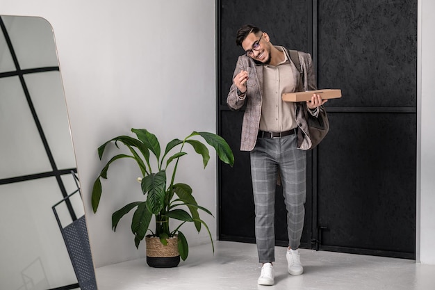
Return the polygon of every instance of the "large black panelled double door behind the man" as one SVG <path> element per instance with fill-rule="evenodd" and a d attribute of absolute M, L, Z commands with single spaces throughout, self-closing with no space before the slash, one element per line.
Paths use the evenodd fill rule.
<path fill-rule="evenodd" d="M 254 242 L 243 110 L 226 98 L 245 23 L 274 45 L 312 54 L 331 130 L 309 152 L 303 248 L 415 258 L 417 1 L 217 1 L 218 131 L 236 161 L 220 168 L 219 238 Z M 287 245 L 277 187 L 277 245 Z"/>

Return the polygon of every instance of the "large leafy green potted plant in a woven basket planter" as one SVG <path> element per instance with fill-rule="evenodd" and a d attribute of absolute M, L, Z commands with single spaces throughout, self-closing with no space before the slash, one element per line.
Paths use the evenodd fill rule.
<path fill-rule="evenodd" d="M 206 227 L 208 236 L 211 239 L 211 245 L 214 252 L 213 239 L 211 232 L 208 229 L 204 220 L 199 216 L 199 211 L 204 211 L 206 214 L 211 214 L 208 209 L 199 206 L 192 195 L 192 188 L 188 184 L 175 183 L 179 158 L 186 155 L 183 151 L 184 146 L 191 145 L 197 154 L 202 156 L 204 168 L 207 166 L 210 156 L 208 148 L 204 143 L 195 140 L 195 136 L 202 137 L 208 145 L 211 145 L 217 152 L 217 156 L 224 163 L 233 166 L 234 156 L 228 143 L 220 136 L 209 132 L 196 132 L 184 138 L 184 140 L 174 139 L 167 143 L 165 152 L 161 155 L 161 146 L 158 138 L 151 134 L 147 129 L 131 129 L 136 134 L 136 137 L 117 136 L 108 140 L 98 148 L 99 159 L 101 160 L 104 151 L 109 143 L 115 143 L 119 147 L 122 143 L 129 149 L 131 154 L 117 154 L 113 156 L 106 166 L 101 170 L 99 176 L 95 180 L 92 188 L 92 209 L 97 212 L 99 201 L 101 198 L 102 187 L 101 178 L 107 179 L 108 168 L 111 163 L 118 159 L 129 158 L 136 161 L 140 168 L 142 177 L 138 178 L 141 184 L 142 194 L 145 198 L 126 204 L 124 207 L 115 211 L 112 215 L 112 229 L 116 231 L 116 227 L 120 219 L 134 211 L 131 220 L 131 230 L 134 234 L 136 248 L 139 247 L 140 241 L 147 237 L 147 263 L 149 266 L 166 267 L 177 266 L 181 259 L 186 260 L 188 257 L 188 242 L 186 236 L 180 231 L 180 227 L 187 222 L 194 223 L 197 232 L 201 231 L 202 225 Z M 175 151 L 176 149 L 178 149 Z M 174 154 L 172 152 L 175 152 Z M 150 160 L 152 157 L 154 160 Z M 174 165 L 170 179 L 167 178 L 168 166 Z M 123 177 L 124 178 L 124 177 Z M 155 218 L 155 228 L 150 228 L 151 219 Z M 170 229 L 170 218 L 180 220 L 181 224 L 175 229 Z M 147 233 L 150 234 L 147 235 Z M 158 240 L 156 243 L 155 240 Z M 148 243 L 149 241 L 149 243 Z M 151 243 L 151 241 L 153 241 Z M 168 250 L 168 245 L 174 245 L 175 250 Z M 149 252 L 154 251 L 154 246 L 159 246 L 162 249 L 155 252 L 170 252 L 167 257 L 158 257 L 151 255 Z M 176 252 L 174 254 L 174 252 Z"/>

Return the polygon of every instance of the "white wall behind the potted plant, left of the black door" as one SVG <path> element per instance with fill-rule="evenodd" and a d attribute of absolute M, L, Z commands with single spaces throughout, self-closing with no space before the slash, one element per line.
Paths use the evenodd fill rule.
<path fill-rule="evenodd" d="M 53 26 L 95 266 L 145 257 L 129 218 L 111 230 L 113 211 L 142 198 L 131 161 L 111 168 L 92 213 L 90 190 L 103 165 L 97 147 L 131 127 L 164 144 L 194 130 L 215 132 L 215 2 L 0 0 L 0 15 L 40 16 Z M 213 156 L 206 170 L 200 156 L 185 156 L 192 166 L 179 181 L 216 216 Z M 121 172 L 126 179 L 113 178 Z M 216 220 L 203 218 L 215 237 Z M 183 229 L 191 245 L 208 241 L 205 230 L 198 237 L 192 225 Z"/>

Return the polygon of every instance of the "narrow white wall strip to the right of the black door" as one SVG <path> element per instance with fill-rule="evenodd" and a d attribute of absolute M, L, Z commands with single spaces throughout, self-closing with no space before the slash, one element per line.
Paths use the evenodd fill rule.
<path fill-rule="evenodd" d="M 420 98 L 420 261 L 435 264 L 435 1 L 421 0 L 418 86 Z M 417 239 L 418 241 L 418 239 Z"/>

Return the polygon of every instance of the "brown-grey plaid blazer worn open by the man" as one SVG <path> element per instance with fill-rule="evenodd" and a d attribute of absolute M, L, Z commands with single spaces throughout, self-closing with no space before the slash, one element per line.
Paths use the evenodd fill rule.
<path fill-rule="evenodd" d="M 288 61 L 293 70 L 295 83 L 299 83 L 299 79 L 302 77 L 304 88 L 300 88 L 299 90 L 317 90 L 311 55 L 299 51 L 298 55 L 302 71 L 301 74 L 299 74 L 299 70 L 297 70 L 295 63 L 291 61 L 289 55 L 290 53 L 287 51 Z M 236 69 L 233 73 L 233 79 L 242 70 L 247 71 L 249 76 L 249 79 L 247 80 L 247 95 L 245 99 L 240 99 L 237 95 L 237 87 L 233 83 L 228 93 L 227 105 L 231 110 L 239 110 L 245 102 L 247 103 L 243 115 L 240 150 L 252 151 L 255 147 L 258 128 L 260 127 L 261 103 L 263 97 L 263 64 L 255 63 L 249 56 L 239 56 Z M 305 102 L 299 104 L 306 106 Z M 306 124 L 306 120 L 304 119 L 304 112 L 299 109 L 297 103 L 295 103 L 295 107 L 295 119 L 299 127 L 297 132 L 297 148 L 300 150 L 308 150 L 311 147 L 308 124 Z"/>

